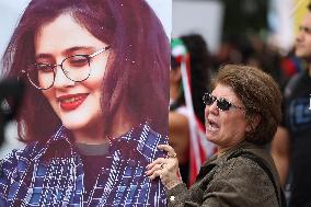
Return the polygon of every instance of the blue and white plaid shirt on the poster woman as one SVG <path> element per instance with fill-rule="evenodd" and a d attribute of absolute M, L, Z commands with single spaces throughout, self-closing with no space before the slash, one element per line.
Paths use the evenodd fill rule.
<path fill-rule="evenodd" d="M 2 161 L 0 206 L 166 206 L 161 181 L 145 175 L 146 165 L 164 156 L 157 146 L 166 142 L 146 124 L 111 140 L 108 164 L 87 194 L 81 157 L 60 127 L 47 142 L 14 150 Z"/>

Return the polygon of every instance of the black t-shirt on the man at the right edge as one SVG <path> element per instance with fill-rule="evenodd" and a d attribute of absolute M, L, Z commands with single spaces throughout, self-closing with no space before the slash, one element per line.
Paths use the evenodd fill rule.
<path fill-rule="evenodd" d="M 291 140 L 290 207 L 311 206 L 311 78 L 295 76 L 285 89 L 284 120 Z"/>

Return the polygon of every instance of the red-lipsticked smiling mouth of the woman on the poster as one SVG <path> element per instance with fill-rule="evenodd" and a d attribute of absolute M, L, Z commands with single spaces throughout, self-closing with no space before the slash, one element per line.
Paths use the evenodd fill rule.
<path fill-rule="evenodd" d="M 57 97 L 64 111 L 72 111 L 79 107 L 87 99 L 88 93 L 67 94 Z"/>

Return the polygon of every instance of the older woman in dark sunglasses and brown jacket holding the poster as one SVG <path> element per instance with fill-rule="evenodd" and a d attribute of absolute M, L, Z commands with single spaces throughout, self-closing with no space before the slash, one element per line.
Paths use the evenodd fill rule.
<path fill-rule="evenodd" d="M 204 103 L 206 135 L 218 146 L 218 153 L 201 166 L 195 184 L 187 189 L 181 182 L 170 146 L 159 146 L 168 158 L 147 166 L 147 175 L 151 180 L 160 176 L 166 187 L 169 206 L 281 205 L 279 177 L 266 149 L 280 122 L 281 95 L 276 82 L 257 68 L 227 65 Z"/>

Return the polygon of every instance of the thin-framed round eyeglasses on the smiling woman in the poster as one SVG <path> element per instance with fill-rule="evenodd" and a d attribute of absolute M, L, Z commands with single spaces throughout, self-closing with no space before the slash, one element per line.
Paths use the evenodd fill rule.
<path fill-rule="evenodd" d="M 91 59 L 107 49 L 111 46 L 104 47 L 91 55 L 74 55 L 65 58 L 61 64 L 34 64 L 22 70 L 21 73 L 27 76 L 31 84 L 39 90 L 47 90 L 54 85 L 56 71 L 55 68 L 60 66 L 65 76 L 74 82 L 82 82 L 91 74 Z"/>

